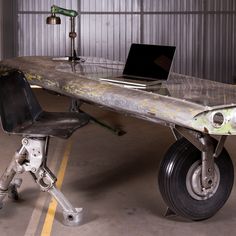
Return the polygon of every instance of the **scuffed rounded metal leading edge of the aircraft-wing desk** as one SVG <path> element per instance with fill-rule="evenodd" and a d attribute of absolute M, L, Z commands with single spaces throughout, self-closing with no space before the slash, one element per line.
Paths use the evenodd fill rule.
<path fill-rule="evenodd" d="M 94 71 L 84 73 L 86 63 L 81 64 L 82 70 L 78 73 L 73 73 L 70 62 L 56 62 L 46 57 L 18 57 L 0 64 L 20 68 L 32 84 L 154 122 L 182 125 L 184 121 L 184 126 L 189 127 L 194 116 L 205 111 L 204 106 L 186 100 L 99 81 L 95 79 Z M 62 72 L 61 66 L 67 67 L 68 71 Z M 106 64 L 100 63 L 96 67 L 101 66 Z M 0 67 L 0 70 L 4 68 Z"/>

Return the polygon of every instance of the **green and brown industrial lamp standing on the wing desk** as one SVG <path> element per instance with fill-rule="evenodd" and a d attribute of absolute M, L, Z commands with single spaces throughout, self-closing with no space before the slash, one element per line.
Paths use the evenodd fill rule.
<path fill-rule="evenodd" d="M 60 17 L 56 16 L 56 14 L 69 16 L 71 20 L 71 32 L 69 33 L 69 37 L 71 40 L 71 55 L 70 57 L 65 57 L 63 59 L 70 60 L 70 61 L 79 61 L 80 58 L 77 57 L 76 50 L 75 50 L 75 38 L 77 36 L 75 32 L 75 17 L 78 15 L 78 12 L 53 5 L 51 7 L 51 16 L 47 17 L 46 23 L 50 25 L 61 24 L 61 19 Z"/>

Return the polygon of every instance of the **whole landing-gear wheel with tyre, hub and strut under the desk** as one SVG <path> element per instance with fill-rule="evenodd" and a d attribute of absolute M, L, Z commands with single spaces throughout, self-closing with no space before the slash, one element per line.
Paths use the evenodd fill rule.
<path fill-rule="evenodd" d="M 229 198 L 234 169 L 220 142 L 217 145 L 209 135 L 191 132 L 187 135 L 181 132 L 191 142 L 180 138 L 167 151 L 158 182 L 172 212 L 191 220 L 204 220 L 213 216 Z"/>

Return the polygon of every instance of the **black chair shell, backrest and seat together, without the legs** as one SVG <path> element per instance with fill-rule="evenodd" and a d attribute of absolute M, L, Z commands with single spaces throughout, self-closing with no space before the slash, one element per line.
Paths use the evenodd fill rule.
<path fill-rule="evenodd" d="M 31 137 L 66 139 L 89 121 L 84 113 L 43 111 L 24 74 L 18 70 L 0 75 L 0 115 L 5 132 Z"/>

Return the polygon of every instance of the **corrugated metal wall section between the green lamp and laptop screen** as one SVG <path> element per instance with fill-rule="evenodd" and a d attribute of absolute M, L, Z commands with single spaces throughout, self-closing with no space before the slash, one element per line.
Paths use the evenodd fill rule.
<path fill-rule="evenodd" d="M 140 0 L 81 0 L 81 52 L 125 61 L 141 42 Z"/>

